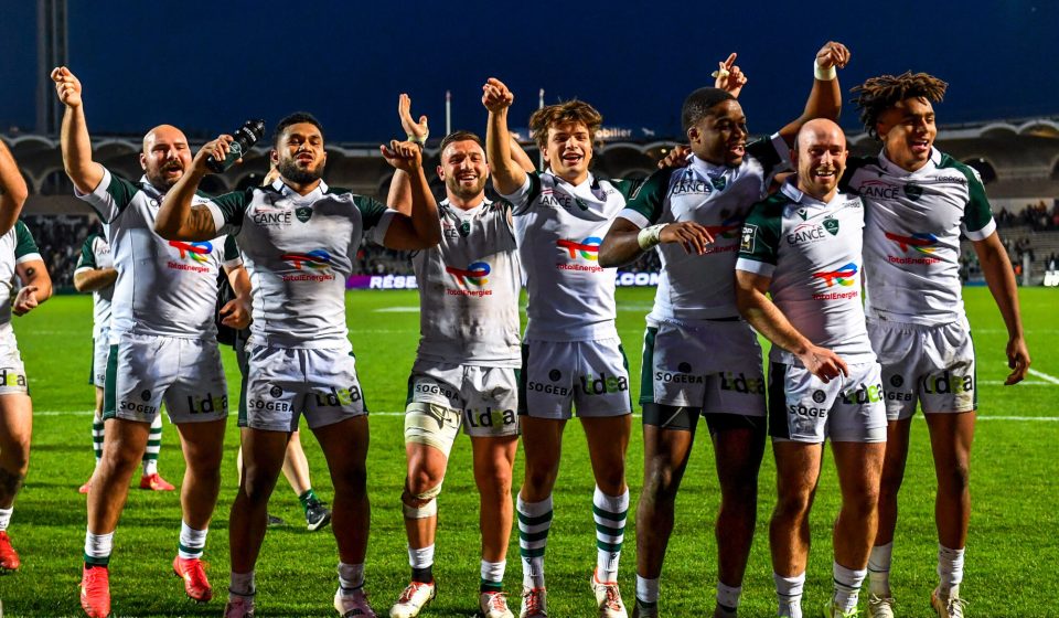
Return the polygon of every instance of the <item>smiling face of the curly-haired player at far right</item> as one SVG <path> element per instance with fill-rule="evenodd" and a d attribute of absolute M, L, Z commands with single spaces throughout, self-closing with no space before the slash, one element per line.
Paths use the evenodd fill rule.
<path fill-rule="evenodd" d="M 900 100 L 879 114 L 876 131 L 886 157 L 906 171 L 916 171 L 927 164 L 938 137 L 934 106 L 926 97 Z"/>

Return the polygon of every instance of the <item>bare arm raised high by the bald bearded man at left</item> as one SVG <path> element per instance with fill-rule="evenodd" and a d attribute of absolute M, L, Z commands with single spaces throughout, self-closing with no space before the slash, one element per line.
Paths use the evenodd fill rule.
<path fill-rule="evenodd" d="M 63 167 L 77 191 L 92 193 L 103 180 L 104 170 L 103 166 L 92 160 L 92 138 L 88 137 L 88 124 L 82 105 L 81 81 L 65 66 L 52 71 L 52 81 L 55 82 L 58 100 L 66 106 L 60 134 Z"/>

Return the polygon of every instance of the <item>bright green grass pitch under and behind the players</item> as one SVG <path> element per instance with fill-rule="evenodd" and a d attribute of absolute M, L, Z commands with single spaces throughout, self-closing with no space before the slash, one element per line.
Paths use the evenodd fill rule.
<path fill-rule="evenodd" d="M 1053 289 L 1020 290 L 1023 317 L 1034 367 L 1059 375 Z M 629 352 L 633 395 L 639 395 L 643 316 L 653 289 L 619 289 L 618 326 Z M 1050 572 L 1057 556 L 1055 509 L 1059 441 L 1055 407 L 1059 384 L 1039 375 L 1028 384 L 1004 387 L 1006 331 L 985 288 L 965 290 L 978 352 L 982 417 L 1018 416 L 1026 420 L 983 418 L 973 450 L 974 510 L 967 542 L 963 590 L 971 616 L 1053 616 L 1057 586 Z M 405 475 L 403 419 L 406 381 L 418 338 L 415 292 L 360 291 L 349 296 L 351 339 L 370 408 L 372 444 L 368 483 L 373 504 L 367 590 L 381 616 L 408 580 L 400 488 Z M 0 599 L 8 616 L 79 615 L 77 585 L 85 534 L 85 500 L 77 487 L 93 467 L 89 436 L 92 388 L 86 384 L 90 359 L 92 309 L 88 297 L 56 297 L 15 330 L 32 387 L 33 448 L 26 487 L 15 503 L 9 532 L 22 555 L 22 569 L 0 577 Z M 225 350 L 231 402 L 236 402 L 237 369 Z M 233 404 L 234 405 L 234 404 Z M 233 408 L 234 411 L 234 408 Z M 1047 419 L 1050 417 L 1050 420 Z M 712 448 L 699 433 L 677 502 L 677 521 L 662 578 L 661 607 L 668 616 L 705 615 L 713 610 L 716 552 L 713 521 L 718 488 Z M 933 469 L 926 424 L 917 422 L 901 493 L 901 518 L 894 551 L 891 580 L 902 616 L 927 616 L 934 575 L 937 541 L 933 524 Z M 180 507 L 176 492 L 130 490 L 110 563 L 114 610 L 118 616 L 216 616 L 227 586 L 228 510 L 236 490 L 235 414 L 225 436 L 228 445 L 216 516 L 205 560 L 216 599 L 204 606 L 186 599 L 170 563 L 176 551 Z M 302 438 L 318 493 L 328 502 L 332 491 L 323 457 L 309 434 Z M 560 478 L 555 493 L 555 521 L 547 552 L 552 616 L 591 616 L 595 605 L 588 578 L 596 561 L 591 520 L 592 478 L 584 434 L 568 425 Z M 470 471 L 466 437 L 453 448 L 439 498 L 435 576 L 439 595 L 424 616 L 472 616 L 479 584 L 478 498 Z M 176 430 L 164 428 L 160 470 L 180 484 L 183 460 Z M 635 574 L 635 504 L 642 486 L 642 441 L 639 418 L 628 456 L 632 508 L 625 532 L 620 583 L 631 607 Z M 740 615 L 774 614 L 768 552 L 768 516 L 774 500 L 774 466 L 767 452 L 761 469 L 758 530 L 744 583 Z M 515 490 L 522 479 L 516 462 Z M 133 478 L 133 483 L 138 481 Z M 831 594 L 831 523 L 837 513 L 838 490 L 830 458 L 825 459 L 812 514 L 810 556 L 803 607 L 815 615 Z M 336 552 L 329 530 L 309 533 L 297 498 L 284 480 L 269 511 L 288 521 L 269 530 L 257 568 L 260 616 L 325 616 L 333 614 Z M 509 550 L 505 587 L 517 611 L 521 565 L 517 534 Z M 864 597 L 867 596 L 863 595 Z M 862 607 L 864 607 L 862 600 Z M 630 610 L 631 611 L 631 610 Z"/>

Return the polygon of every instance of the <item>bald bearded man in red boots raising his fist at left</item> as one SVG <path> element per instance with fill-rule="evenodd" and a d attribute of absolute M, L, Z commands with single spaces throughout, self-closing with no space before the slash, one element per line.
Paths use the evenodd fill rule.
<path fill-rule="evenodd" d="M 184 580 L 188 596 L 204 603 L 213 589 L 201 557 L 221 487 L 228 413 L 214 324 L 215 281 L 224 268 L 238 298 L 222 315 L 227 316 L 225 323 L 243 328 L 249 315 L 249 279 L 229 237 L 182 243 L 154 233 L 162 198 L 191 166 L 184 134 L 169 125 L 151 129 L 140 153 L 143 177 L 130 182 L 93 161 L 77 77 L 58 67 L 52 79 L 66 106 L 62 128 L 66 173 L 77 196 L 103 221 L 117 270 L 104 386 L 104 449 L 88 492 L 81 604 L 90 617 L 110 612 L 114 532 L 129 479 L 163 403 L 180 431 L 188 464 L 172 568 Z M 147 563 L 142 568 L 152 567 Z"/>

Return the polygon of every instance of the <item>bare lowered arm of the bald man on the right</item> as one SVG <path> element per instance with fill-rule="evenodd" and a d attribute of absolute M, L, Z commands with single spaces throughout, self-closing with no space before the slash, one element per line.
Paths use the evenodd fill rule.
<path fill-rule="evenodd" d="M 813 345 L 766 296 L 771 281 L 771 277 L 736 270 L 736 306 L 742 318 L 774 345 L 796 355 L 824 384 L 842 374 L 849 375 L 849 367 L 838 354 Z"/>

